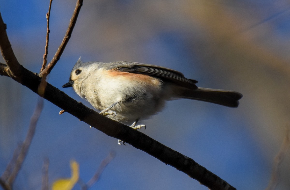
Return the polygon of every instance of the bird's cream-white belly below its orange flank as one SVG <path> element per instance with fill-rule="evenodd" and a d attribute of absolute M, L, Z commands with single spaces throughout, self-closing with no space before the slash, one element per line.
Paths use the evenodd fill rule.
<path fill-rule="evenodd" d="M 162 91 L 162 82 L 149 76 L 147 82 L 138 77 L 122 81 L 122 78 L 101 79 L 93 86 L 94 94 L 86 99 L 98 110 L 109 108 L 116 114 L 108 115 L 113 120 L 124 124 L 132 124 L 159 112 L 165 103 Z M 148 79 L 147 79 L 148 78 Z"/>

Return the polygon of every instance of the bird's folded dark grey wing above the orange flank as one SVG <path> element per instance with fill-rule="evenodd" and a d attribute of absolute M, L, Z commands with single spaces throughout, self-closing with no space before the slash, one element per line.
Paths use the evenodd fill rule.
<path fill-rule="evenodd" d="M 197 83 L 196 80 L 187 79 L 182 73 L 176 70 L 156 65 L 134 63 L 129 61 L 118 61 L 113 63 L 115 63 L 113 64 L 113 68 L 120 71 L 149 75 L 152 77 L 160 78 L 166 82 L 172 82 L 185 88 L 197 89 L 197 86 L 195 85 L 195 83 Z"/>

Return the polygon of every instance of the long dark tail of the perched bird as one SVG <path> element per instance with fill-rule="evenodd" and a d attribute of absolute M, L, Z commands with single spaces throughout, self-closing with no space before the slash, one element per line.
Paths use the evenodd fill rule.
<path fill-rule="evenodd" d="M 238 107 L 239 99 L 241 99 L 243 95 L 235 91 L 198 88 L 196 90 L 180 89 L 177 97 L 196 99 L 228 107 Z"/>

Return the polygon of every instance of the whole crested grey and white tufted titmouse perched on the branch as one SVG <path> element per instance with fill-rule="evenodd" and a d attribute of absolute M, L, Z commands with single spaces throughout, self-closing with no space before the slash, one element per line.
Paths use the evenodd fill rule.
<path fill-rule="evenodd" d="M 111 63 L 77 61 L 63 88 L 75 92 L 101 114 L 124 124 L 146 119 L 161 111 L 166 100 L 196 99 L 228 107 L 238 107 L 242 94 L 235 91 L 198 88 L 196 80 L 161 66 L 128 61 Z"/>

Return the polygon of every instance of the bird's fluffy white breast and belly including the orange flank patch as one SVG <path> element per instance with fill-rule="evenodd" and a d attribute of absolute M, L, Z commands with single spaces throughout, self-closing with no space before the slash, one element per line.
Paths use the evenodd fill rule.
<path fill-rule="evenodd" d="M 132 124 L 154 115 L 164 106 L 160 79 L 100 68 L 86 80 L 90 82 L 84 87 L 89 91 L 85 98 L 96 109 L 101 111 L 119 102 L 111 109 L 117 113 L 115 117 L 109 116 L 113 120 Z"/>

